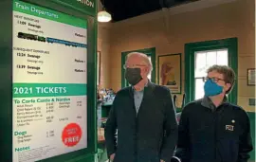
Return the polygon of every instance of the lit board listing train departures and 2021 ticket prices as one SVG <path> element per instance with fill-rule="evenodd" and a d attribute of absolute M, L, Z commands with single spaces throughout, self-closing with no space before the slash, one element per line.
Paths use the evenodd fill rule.
<path fill-rule="evenodd" d="M 86 20 L 13 1 L 13 162 L 87 147 L 86 27 Z"/>

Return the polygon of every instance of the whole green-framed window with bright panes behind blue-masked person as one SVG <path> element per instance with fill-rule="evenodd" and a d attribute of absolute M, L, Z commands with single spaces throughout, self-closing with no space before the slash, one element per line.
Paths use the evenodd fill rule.
<path fill-rule="evenodd" d="M 185 45 L 185 102 L 204 96 L 207 68 L 212 64 L 229 65 L 237 74 L 237 38 L 195 42 Z M 237 80 L 229 94 L 229 102 L 237 104 Z"/>

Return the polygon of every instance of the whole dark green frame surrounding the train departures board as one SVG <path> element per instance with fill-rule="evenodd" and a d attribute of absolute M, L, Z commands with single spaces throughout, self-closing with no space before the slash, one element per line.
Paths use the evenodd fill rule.
<path fill-rule="evenodd" d="M 46 9 L 54 9 L 83 20 L 87 20 L 87 138 L 88 147 L 77 152 L 65 153 L 42 161 L 46 162 L 75 162 L 95 161 L 97 153 L 97 122 L 96 122 L 96 67 L 97 67 L 97 18 L 85 15 L 79 9 L 68 8 L 63 4 L 48 0 L 24 0 L 24 2 L 38 5 Z M 0 134 L 0 161 L 12 161 L 12 5 L 11 0 L 1 0 L 0 18 L 7 19 L 0 31 L 0 75 L 5 76 L 0 80 L 0 128 L 5 128 L 5 134 Z M 97 7 L 96 3 L 96 7 Z"/>

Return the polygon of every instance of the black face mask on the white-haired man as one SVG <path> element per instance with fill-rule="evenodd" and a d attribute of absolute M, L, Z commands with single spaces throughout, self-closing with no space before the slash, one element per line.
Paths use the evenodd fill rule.
<path fill-rule="evenodd" d="M 139 81 L 142 80 L 142 77 L 140 76 L 140 68 L 126 68 L 125 79 L 131 85 L 136 85 Z"/>

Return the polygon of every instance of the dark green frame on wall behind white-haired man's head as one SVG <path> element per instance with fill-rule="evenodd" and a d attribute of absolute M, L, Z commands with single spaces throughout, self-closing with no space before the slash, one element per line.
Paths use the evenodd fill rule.
<path fill-rule="evenodd" d="M 121 52 L 121 87 L 123 88 L 123 87 L 129 86 L 128 82 L 124 78 L 125 70 L 123 69 L 123 64 L 125 64 L 127 54 L 131 52 L 141 52 L 146 54 L 147 56 L 151 56 L 151 61 L 153 66 L 152 73 L 151 73 L 151 81 L 155 82 L 155 47 L 137 49 L 132 51 Z"/>

